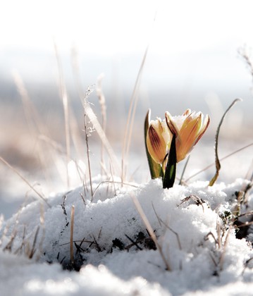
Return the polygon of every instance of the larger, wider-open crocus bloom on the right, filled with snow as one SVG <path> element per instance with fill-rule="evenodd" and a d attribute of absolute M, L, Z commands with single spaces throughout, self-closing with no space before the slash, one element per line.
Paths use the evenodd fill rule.
<path fill-rule="evenodd" d="M 182 116 L 174 117 L 167 111 L 165 118 L 169 130 L 175 135 L 177 162 L 182 161 L 204 135 L 210 118 L 206 115 L 203 121 L 202 112 L 195 113 L 190 109 L 187 109 Z"/>

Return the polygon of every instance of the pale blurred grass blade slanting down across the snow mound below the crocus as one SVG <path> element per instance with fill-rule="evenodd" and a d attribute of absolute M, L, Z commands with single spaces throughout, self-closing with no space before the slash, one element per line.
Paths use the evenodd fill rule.
<path fill-rule="evenodd" d="M 144 225 L 147 228 L 147 231 L 149 232 L 150 237 L 152 238 L 153 242 L 155 243 L 156 248 L 159 250 L 161 258 L 163 259 L 163 262 L 166 266 L 166 270 L 171 271 L 171 267 L 169 266 L 168 261 L 163 254 L 163 249 L 162 249 L 161 245 L 159 245 L 156 235 L 154 234 L 154 230 L 153 230 L 152 226 L 150 225 L 150 223 L 147 219 L 147 216 L 144 214 L 144 211 L 142 210 L 142 206 L 140 205 L 140 202 L 137 200 L 137 198 L 134 195 L 131 195 L 131 197 L 132 197 L 132 201 L 134 202 L 138 213 L 140 214 L 140 217 L 142 218 Z"/>

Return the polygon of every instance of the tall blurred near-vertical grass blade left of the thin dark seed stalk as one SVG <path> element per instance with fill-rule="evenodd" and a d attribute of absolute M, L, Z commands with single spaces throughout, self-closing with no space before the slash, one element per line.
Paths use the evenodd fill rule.
<path fill-rule="evenodd" d="M 66 90 L 66 85 L 63 80 L 63 70 L 61 66 L 61 60 L 58 54 L 58 49 L 56 43 L 54 43 L 54 50 L 56 53 L 56 61 L 58 66 L 58 74 L 60 79 L 60 90 L 61 90 L 61 98 L 63 101 L 63 111 L 64 111 L 64 122 L 65 122 L 65 139 L 66 139 L 66 174 L 67 174 L 67 185 L 70 186 L 70 180 L 68 175 L 68 160 L 70 159 L 70 120 L 68 113 L 68 94 Z"/>

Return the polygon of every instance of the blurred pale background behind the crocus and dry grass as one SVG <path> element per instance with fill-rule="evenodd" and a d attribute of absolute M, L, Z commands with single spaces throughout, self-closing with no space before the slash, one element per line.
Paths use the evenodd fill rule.
<path fill-rule="evenodd" d="M 129 180 L 149 180 L 142 136 L 149 108 L 152 118 L 187 108 L 211 116 L 209 130 L 192 152 L 187 177 L 214 161 L 218 122 L 237 97 L 243 101 L 221 128 L 221 157 L 252 143 L 252 10 L 251 0 L 1 1 L 0 156 L 46 196 L 80 183 L 68 161 L 71 180 L 66 185 L 61 87 L 68 97 L 70 156 L 82 161 L 85 171 L 80 90 L 94 90 L 89 101 L 101 123 L 99 80 L 106 100 L 106 135 L 121 161 L 130 99 L 146 50 L 125 158 Z M 101 172 L 99 145 L 92 132 L 93 175 Z M 244 178 L 251 161 L 252 146 L 224 161 L 221 180 Z M 34 193 L 3 162 L 0 173 L 0 214 L 8 218 Z M 213 173 L 214 168 L 197 179 Z"/>

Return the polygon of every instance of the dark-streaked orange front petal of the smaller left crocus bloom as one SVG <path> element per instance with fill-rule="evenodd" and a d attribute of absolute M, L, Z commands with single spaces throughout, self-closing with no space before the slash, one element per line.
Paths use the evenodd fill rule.
<path fill-rule="evenodd" d="M 166 156 L 167 143 L 163 138 L 161 121 L 151 123 L 147 131 L 147 149 L 157 164 L 162 164 Z"/>

